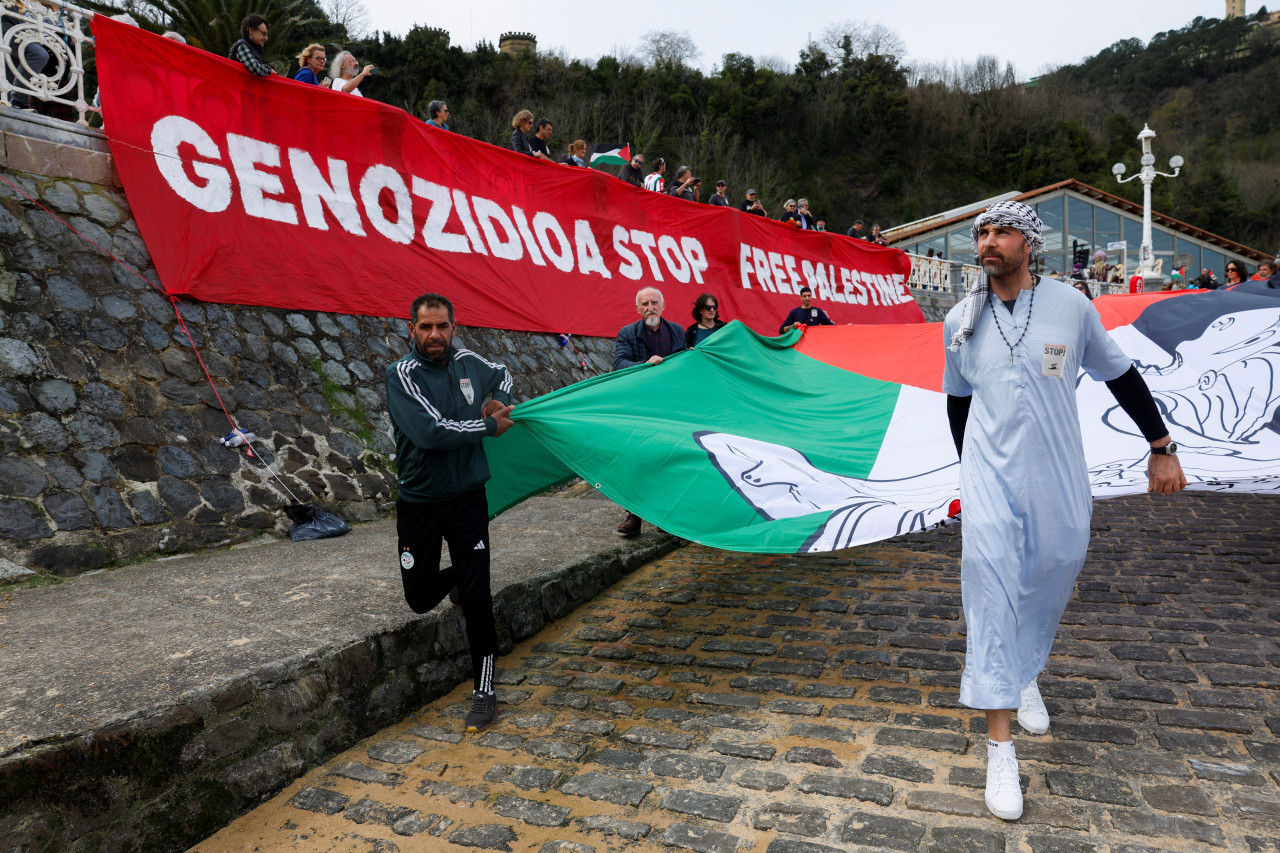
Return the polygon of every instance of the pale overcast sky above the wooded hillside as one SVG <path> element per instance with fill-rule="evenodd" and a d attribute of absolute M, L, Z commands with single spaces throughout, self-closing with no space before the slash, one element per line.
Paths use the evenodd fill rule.
<path fill-rule="evenodd" d="M 727 53 L 777 56 L 794 65 L 800 50 L 824 27 L 849 19 L 882 23 L 906 42 L 914 60 L 973 60 L 992 54 L 1012 61 L 1021 79 L 1046 67 L 1091 56 L 1120 38 L 1148 41 L 1197 15 L 1221 18 L 1225 0 L 1024 0 L 956 3 L 954 0 L 643 0 L 640 3 L 529 3 L 474 0 L 365 0 L 371 26 L 403 35 L 413 24 L 443 27 L 452 44 L 470 49 L 480 40 L 497 45 L 508 31 L 531 32 L 539 49 L 563 47 L 571 58 L 594 60 L 634 50 L 650 29 L 687 31 L 710 70 Z M 1253 14 L 1262 0 L 1245 0 Z"/>

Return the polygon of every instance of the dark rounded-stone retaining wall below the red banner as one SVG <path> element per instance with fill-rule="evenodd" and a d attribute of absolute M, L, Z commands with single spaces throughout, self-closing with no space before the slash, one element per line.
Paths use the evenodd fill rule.
<path fill-rule="evenodd" d="M 6 172 L 93 242 L 156 274 L 119 190 Z M 264 263 L 270 263 L 264 259 Z M 0 183 L 0 557 L 73 575 L 148 553 L 287 534 L 287 496 L 223 447 L 230 423 L 169 300 Z M 365 521 L 390 508 L 383 370 L 403 319 L 179 307 L 218 396 L 302 501 Z M 406 316 L 408 306 L 406 305 Z M 461 329 L 504 361 L 517 400 L 585 375 L 556 336 Z M 580 338 L 594 370 L 612 341 Z M 593 370 L 593 373 L 594 373 Z"/>

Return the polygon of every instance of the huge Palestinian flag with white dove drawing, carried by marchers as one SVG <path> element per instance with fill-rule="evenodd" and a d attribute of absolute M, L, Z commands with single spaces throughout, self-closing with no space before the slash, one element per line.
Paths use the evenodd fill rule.
<path fill-rule="evenodd" d="M 1094 302 L 1162 410 L 1189 488 L 1280 491 L 1280 291 Z M 646 521 L 731 551 L 832 551 L 945 523 L 959 462 L 941 324 L 762 337 L 731 323 L 690 352 L 521 403 L 486 439 L 490 510 L 575 474 Z M 1094 497 L 1146 491 L 1147 442 L 1078 378 Z"/>

